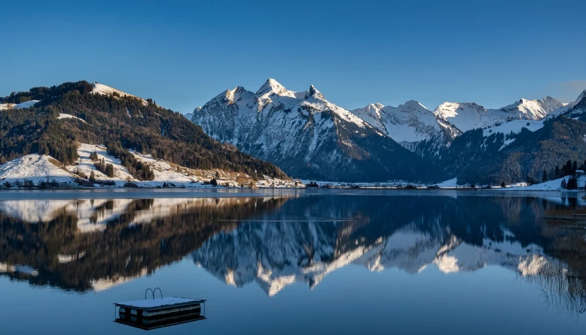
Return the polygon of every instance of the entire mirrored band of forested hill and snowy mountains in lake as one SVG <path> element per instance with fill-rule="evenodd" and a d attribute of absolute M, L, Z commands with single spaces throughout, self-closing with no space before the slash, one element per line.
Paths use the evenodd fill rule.
<path fill-rule="evenodd" d="M 542 219 L 575 206 L 575 198 L 366 195 L 5 201 L 0 275 L 100 291 L 191 255 L 227 284 L 257 282 L 274 295 L 293 282 L 313 288 L 347 264 L 413 274 L 494 264 L 538 284 L 555 306 L 582 310 L 585 230 Z"/>

